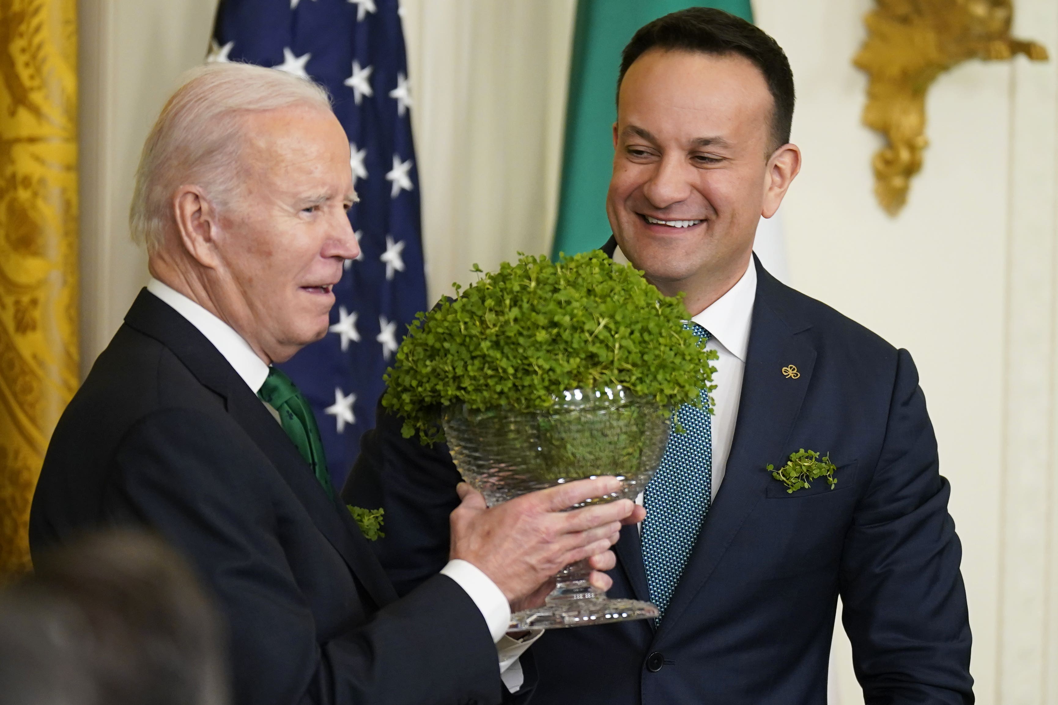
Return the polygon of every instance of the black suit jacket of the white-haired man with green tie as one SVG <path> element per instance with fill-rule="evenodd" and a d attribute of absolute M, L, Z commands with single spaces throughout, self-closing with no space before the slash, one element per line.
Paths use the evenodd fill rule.
<path fill-rule="evenodd" d="M 111 524 L 160 532 L 219 598 L 236 703 L 500 700 L 467 593 L 434 575 L 398 599 L 254 392 L 146 291 L 55 429 L 31 546 Z"/>

